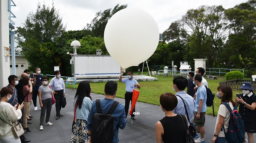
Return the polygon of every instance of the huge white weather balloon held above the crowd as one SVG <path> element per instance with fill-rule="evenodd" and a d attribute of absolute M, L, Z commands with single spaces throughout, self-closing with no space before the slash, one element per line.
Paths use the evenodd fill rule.
<path fill-rule="evenodd" d="M 123 69 L 147 60 L 157 48 L 159 29 L 154 18 L 139 8 L 125 8 L 108 21 L 106 48 Z"/>

